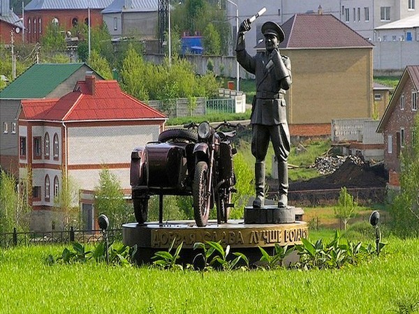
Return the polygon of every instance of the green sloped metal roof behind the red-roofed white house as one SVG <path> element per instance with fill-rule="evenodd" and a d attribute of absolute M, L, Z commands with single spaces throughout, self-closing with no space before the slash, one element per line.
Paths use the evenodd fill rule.
<path fill-rule="evenodd" d="M 44 98 L 84 65 L 85 63 L 34 64 L 0 91 L 0 98 Z"/>

